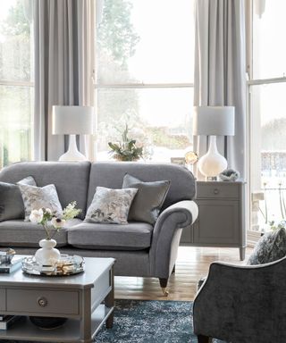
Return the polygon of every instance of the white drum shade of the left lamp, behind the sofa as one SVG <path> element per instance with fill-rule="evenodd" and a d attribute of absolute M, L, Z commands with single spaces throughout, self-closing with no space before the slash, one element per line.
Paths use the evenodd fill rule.
<path fill-rule="evenodd" d="M 93 133 L 92 106 L 53 106 L 54 135 L 88 135 Z"/>

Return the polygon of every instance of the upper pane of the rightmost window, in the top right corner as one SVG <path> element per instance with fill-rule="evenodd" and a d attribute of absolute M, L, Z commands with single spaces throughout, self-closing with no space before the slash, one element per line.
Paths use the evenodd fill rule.
<path fill-rule="evenodd" d="M 286 1 L 253 3 L 253 78 L 286 76 Z"/>

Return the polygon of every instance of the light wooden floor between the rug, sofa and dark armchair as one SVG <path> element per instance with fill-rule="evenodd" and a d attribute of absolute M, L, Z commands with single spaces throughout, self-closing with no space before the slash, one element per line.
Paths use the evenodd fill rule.
<path fill-rule="evenodd" d="M 252 248 L 247 248 L 247 256 Z M 115 298 L 141 300 L 193 300 L 198 280 L 208 272 L 209 264 L 224 261 L 245 264 L 240 261 L 238 248 L 228 247 L 180 247 L 176 272 L 169 279 L 169 296 L 164 297 L 156 278 L 115 277 Z"/>

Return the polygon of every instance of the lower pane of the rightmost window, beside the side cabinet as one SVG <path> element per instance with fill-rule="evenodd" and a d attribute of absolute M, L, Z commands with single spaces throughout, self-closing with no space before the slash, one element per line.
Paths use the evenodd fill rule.
<path fill-rule="evenodd" d="M 286 83 L 251 87 L 251 184 L 260 229 L 286 219 Z M 257 198 L 257 195 L 253 196 Z M 259 205 L 260 208 L 257 207 Z"/>

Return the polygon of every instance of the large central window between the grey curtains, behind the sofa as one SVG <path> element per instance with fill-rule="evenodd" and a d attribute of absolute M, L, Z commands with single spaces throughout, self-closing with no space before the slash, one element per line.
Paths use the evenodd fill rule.
<path fill-rule="evenodd" d="M 98 0 L 97 0 L 98 1 Z M 170 162 L 192 145 L 193 0 L 102 0 L 97 23 L 97 160 L 130 138 L 147 160 Z"/>

